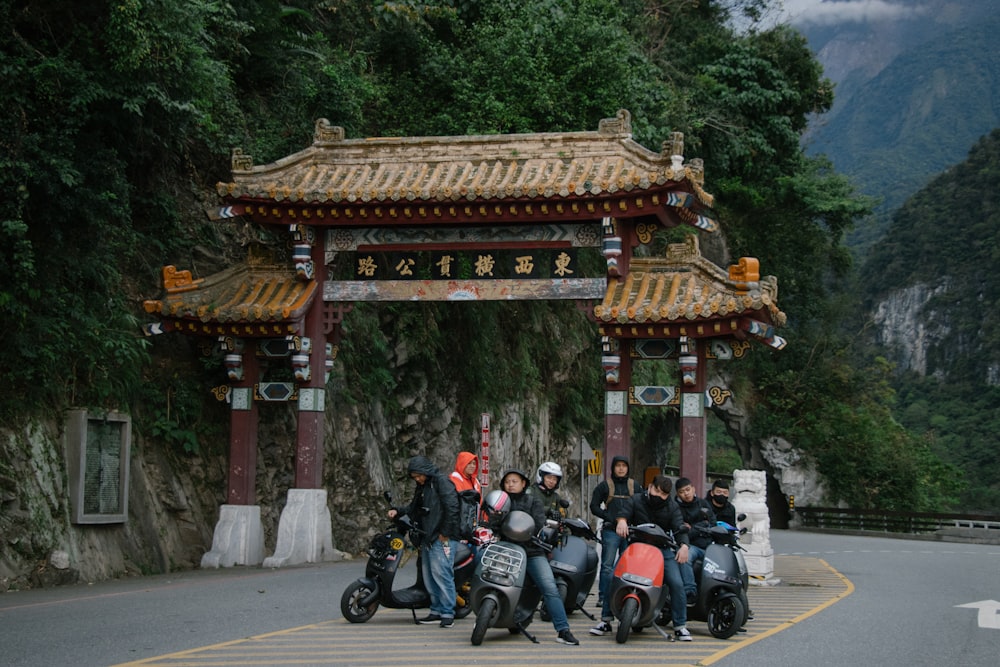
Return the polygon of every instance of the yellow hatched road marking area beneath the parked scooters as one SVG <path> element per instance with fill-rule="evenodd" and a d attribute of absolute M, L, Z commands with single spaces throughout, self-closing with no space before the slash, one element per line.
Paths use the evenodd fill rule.
<path fill-rule="evenodd" d="M 579 667 L 583 664 L 628 664 L 629 667 L 691 667 L 711 665 L 741 648 L 770 637 L 817 614 L 854 591 L 854 585 L 828 563 L 804 556 L 775 556 L 777 586 L 751 586 L 748 596 L 754 619 L 747 632 L 728 640 L 715 639 L 705 624 L 690 621 L 692 642 L 668 642 L 654 628 L 630 634 L 625 644 L 613 636 L 588 634 L 592 623 L 579 612 L 570 616 L 580 646 L 555 641 L 550 623 L 535 620 L 532 644 L 506 630 L 490 630 L 482 646 L 469 643 L 474 617 L 455 627 L 414 625 L 405 610 L 379 609 L 368 623 L 343 619 L 289 628 L 169 655 L 145 658 L 116 667 L 225 667 L 229 665 L 440 665 L 460 652 L 470 665 L 509 665 L 521 661 L 538 667 Z M 594 599 L 593 597 L 591 599 Z"/>

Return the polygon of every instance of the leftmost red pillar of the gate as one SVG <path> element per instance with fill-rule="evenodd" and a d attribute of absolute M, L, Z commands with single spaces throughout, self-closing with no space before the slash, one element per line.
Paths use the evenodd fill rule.
<path fill-rule="evenodd" d="M 231 385 L 229 413 L 229 505 L 257 503 L 257 402 L 253 386 L 260 380 L 257 345 L 247 340 L 242 352 L 243 379 Z"/>

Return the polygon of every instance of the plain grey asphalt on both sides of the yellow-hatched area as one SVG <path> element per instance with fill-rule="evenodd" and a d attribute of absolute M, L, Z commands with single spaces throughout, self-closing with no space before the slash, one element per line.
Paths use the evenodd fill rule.
<path fill-rule="evenodd" d="M 772 546 L 776 555 L 828 563 L 853 584 L 853 592 L 818 613 L 701 664 L 992 667 L 1000 663 L 1000 627 L 991 627 L 1000 625 L 995 623 L 1000 619 L 996 611 L 981 613 L 959 606 L 1000 601 L 1000 546 L 793 531 L 774 531 Z M 339 619 L 340 594 L 363 568 L 359 559 L 281 570 L 182 572 L 7 593 L 0 595 L 0 664 L 107 666 L 322 624 Z M 356 630 L 339 632 L 349 640 L 356 635 L 357 650 L 369 652 L 398 648 L 394 634 L 409 642 L 420 636 L 409 634 L 414 631 L 448 632 L 418 628 L 403 617 L 388 622 L 394 617 L 386 614 L 386 625 L 379 629 L 381 647 L 372 646 L 370 640 L 362 643 L 362 633 Z M 338 621 L 335 627 L 356 628 L 341 624 Z M 370 625 L 361 627 L 368 631 Z M 566 654 L 572 664 L 587 664 L 588 656 L 607 664 L 604 649 L 616 646 L 606 641 L 600 653 L 593 653 L 583 650 L 591 646 L 585 643 L 564 647 L 579 651 Z M 531 663 L 531 646 L 497 643 L 492 650 L 510 650 L 511 662 Z M 464 641 L 454 648 L 469 657 L 470 647 Z M 403 663 L 394 659 L 392 664 Z"/>

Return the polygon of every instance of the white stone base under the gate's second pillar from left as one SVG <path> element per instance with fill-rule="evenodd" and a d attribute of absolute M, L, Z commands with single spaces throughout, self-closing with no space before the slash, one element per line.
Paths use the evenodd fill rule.
<path fill-rule="evenodd" d="M 264 567 L 340 560 L 333 548 L 330 509 L 325 489 L 289 489 L 288 503 L 278 521 L 278 544 Z"/>

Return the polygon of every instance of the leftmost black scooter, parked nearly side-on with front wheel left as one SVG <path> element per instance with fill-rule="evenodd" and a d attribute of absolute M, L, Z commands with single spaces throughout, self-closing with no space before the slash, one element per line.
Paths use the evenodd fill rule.
<path fill-rule="evenodd" d="M 392 505 L 391 496 L 385 499 Z M 397 514 L 392 526 L 384 533 L 372 538 L 368 546 L 368 564 L 365 576 L 356 579 L 340 598 L 340 611 L 351 623 L 364 623 L 371 619 L 379 605 L 388 609 L 409 609 L 413 622 L 417 622 L 417 609 L 431 605 L 431 596 L 424 586 L 422 555 L 417 556 L 417 581 L 408 588 L 393 589 L 396 571 L 408 559 L 407 536 L 416 531 L 413 521 L 405 514 Z M 452 542 L 452 558 L 455 566 L 455 617 L 465 618 L 472 612 L 469 604 L 469 588 L 475 569 L 472 549 L 464 542 Z"/>

